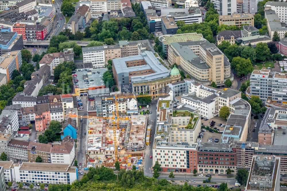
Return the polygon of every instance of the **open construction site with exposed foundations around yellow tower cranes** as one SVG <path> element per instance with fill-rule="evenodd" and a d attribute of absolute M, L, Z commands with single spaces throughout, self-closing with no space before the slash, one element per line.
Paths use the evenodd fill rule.
<path fill-rule="evenodd" d="M 95 164 L 114 167 L 115 161 L 118 160 L 123 169 L 131 169 L 133 165 L 141 169 L 147 122 L 148 117 L 144 115 L 118 119 L 117 117 L 88 118 L 86 147 L 88 167 Z"/>

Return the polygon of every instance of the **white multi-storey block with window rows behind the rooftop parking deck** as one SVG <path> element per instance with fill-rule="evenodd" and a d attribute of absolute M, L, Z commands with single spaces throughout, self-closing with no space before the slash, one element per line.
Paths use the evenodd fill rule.
<path fill-rule="evenodd" d="M 93 68 L 105 67 L 105 50 L 101 46 L 83 47 L 83 62 L 92 63 Z"/>

